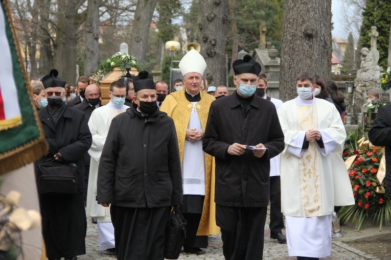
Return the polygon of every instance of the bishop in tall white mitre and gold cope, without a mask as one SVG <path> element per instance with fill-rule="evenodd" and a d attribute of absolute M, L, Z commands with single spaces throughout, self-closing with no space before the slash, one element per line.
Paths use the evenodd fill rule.
<path fill-rule="evenodd" d="M 182 58 L 179 68 L 185 87 L 169 94 L 160 111 L 174 120 L 178 136 L 183 177 L 180 210 L 188 221 L 183 249 L 188 253 L 204 254 L 200 248 L 208 247 L 208 235 L 219 233 L 214 214 L 210 216 L 210 207 L 214 207 L 212 156 L 202 151 L 201 140 L 215 98 L 200 90 L 206 62 L 196 50 Z"/>

